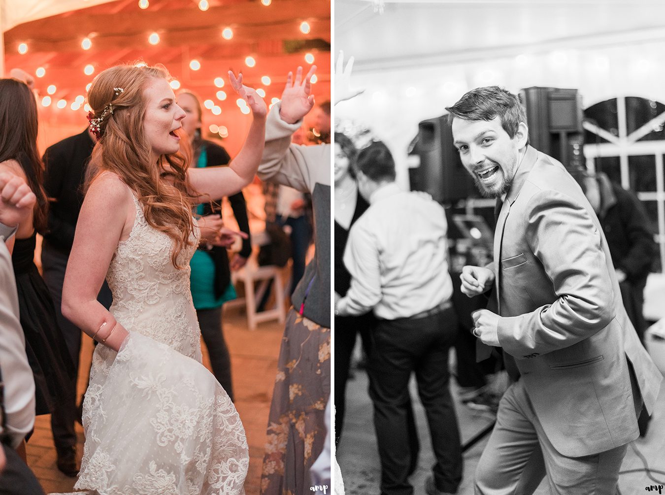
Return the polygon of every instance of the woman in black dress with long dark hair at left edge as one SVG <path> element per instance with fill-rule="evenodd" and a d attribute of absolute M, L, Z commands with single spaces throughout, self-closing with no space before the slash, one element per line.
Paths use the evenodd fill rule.
<path fill-rule="evenodd" d="M 49 414 L 63 401 L 74 375 L 74 364 L 58 327 L 49 289 L 35 257 L 37 230 L 45 228 L 48 202 L 43 188 L 44 166 L 37 152 L 37 104 L 28 86 L 0 79 L 0 170 L 25 179 L 37 196 L 33 215 L 19 224 L 7 243 L 19 293 L 25 350 L 35 375 L 36 413 Z"/>

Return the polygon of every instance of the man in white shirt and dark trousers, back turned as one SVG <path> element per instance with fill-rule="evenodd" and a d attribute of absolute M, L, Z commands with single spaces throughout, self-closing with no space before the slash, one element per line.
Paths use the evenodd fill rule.
<path fill-rule="evenodd" d="M 344 264 L 352 280 L 336 297 L 335 313 L 379 319 L 369 356 L 370 397 L 381 458 L 381 494 L 411 495 L 412 450 L 408 383 L 412 372 L 425 408 L 436 457 L 428 494 L 454 494 L 462 479 L 460 433 L 448 389 L 448 351 L 457 317 L 446 252 L 446 214 L 428 194 L 395 183 L 385 144 L 374 142 L 356 160 L 358 190 L 370 207 L 352 226 Z"/>

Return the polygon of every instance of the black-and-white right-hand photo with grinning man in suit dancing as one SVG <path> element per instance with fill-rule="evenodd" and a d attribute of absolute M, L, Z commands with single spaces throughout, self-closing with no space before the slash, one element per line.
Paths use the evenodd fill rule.
<path fill-rule="evenodd" d="M 346 494 L 662 491 L 664 15 L 334 2 Z"/>

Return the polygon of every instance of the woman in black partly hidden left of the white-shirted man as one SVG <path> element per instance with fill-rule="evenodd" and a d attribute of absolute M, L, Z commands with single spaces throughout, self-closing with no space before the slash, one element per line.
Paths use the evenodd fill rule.
<path fill-rule="evenodd" d="M 356 148 L 344 134 L 334 135 L 334 290 L 344 297 L 351 283 L 342 258 L 352 224 L 367 210 L 368 203 L 358 194 L 352 161 Z M 365 353 L 370 351 L 370 331 L 374 315 L 334 317 L 334 406 L 335 444 L 339 442 L 344 423 L 344 394 L 357 334 L 360 333 Z"/>

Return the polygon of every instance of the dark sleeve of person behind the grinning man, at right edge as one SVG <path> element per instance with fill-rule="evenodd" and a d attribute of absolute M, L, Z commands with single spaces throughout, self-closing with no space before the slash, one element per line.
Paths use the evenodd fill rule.
<path fill-rule="evenodd" d="M 628 279 L 639 279 L 649 273 L 656 255 L 654 236 L 644 206 L 634 194 L 626 191 L 618 198 L 622 222 L 626 226 L 626 237 L 630 249 L 622 258 L 615 260 Z"/>

